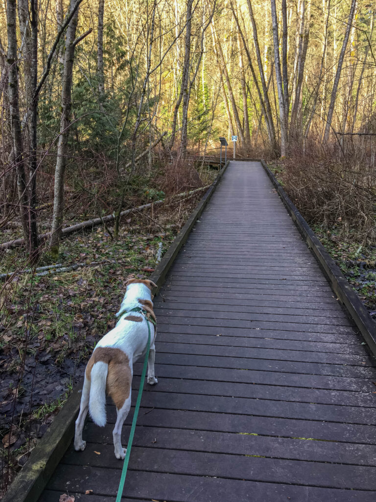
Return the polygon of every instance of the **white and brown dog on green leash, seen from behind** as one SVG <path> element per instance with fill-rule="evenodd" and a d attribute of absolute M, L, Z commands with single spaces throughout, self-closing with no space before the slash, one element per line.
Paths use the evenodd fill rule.
<path fill-rule="evenodd" d="M 152 287 L 149 280 L 129 279 L 116 326 L 103 336 L 94 348 L 94 352 L 85 370 L 80 413 L 76 420 L 74 437 L 75 450 L 84 450 L 86 442 L 82 440 L 87 412 L 93 421 L 103 427 L 106 425 L 106 393 L 111 396 L 117 411 L 117 420 L 113 430 L 116 458 L 123 459 L 126 449 L 121 446 L 121 429 L 131 403 L 133 363 L 144 357 L 148 339 L 145 317 L 140 312 L 128 313 L 135 307 L 141 307 L 155 321 L 152 303 Z M 155 328 L 150 323 L 151 339 L 148 354 L 147 383 L 158 383 L 154 376 Z"/>

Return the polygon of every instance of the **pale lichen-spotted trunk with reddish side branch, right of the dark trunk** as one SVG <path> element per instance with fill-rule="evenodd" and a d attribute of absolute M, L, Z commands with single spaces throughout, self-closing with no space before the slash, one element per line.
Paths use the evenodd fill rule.
<path fill-rule="evenodd" d="M 75 0 L 70 0 L 70 11 L 75 6 Z M 60 118 L 60 136 L 57 152 L 57 161 L 55 167 L 55 189 L 54 189 L 54 211 L 51 228 L 50 247 L 54 258 L 59 254 L 59 240 L 63 225 L 64 212 L 64 175 L 67 164 L 69 127 L 71 118 L 71 91 L 72 91 L 72 72 L 74 60 L 74 40 L 76 35 L 78 9 L 72 17 L 65 36 L 65 55 L 63 82 L 61 91 L 62 113 Z"/>

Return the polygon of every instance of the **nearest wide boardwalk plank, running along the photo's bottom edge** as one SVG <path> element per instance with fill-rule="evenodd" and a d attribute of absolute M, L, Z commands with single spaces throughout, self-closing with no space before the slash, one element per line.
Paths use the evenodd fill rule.
<path fill-rule="evenodd" d="M 55 490 L 66 489 L 67 479 L 70 490 L 79 490 L 88 485 L 96 493 L 107 490 L 115 496 L 119 483 L 117 469 L 93 468 L 83 466 L 80 471 L 74 465 L 59 467 L 51 481 Z M 81 488 L 82 489 L 82 488 Z M 82 491 L 81 491 L 82 493 Z M 374 502 L 374 493 L 365 490 L 324 489 L 288 484 L 263 483 L 217 477 L 188 476 L 158 472 L 129 471 L 124 495 L 127 497 L 155 497 L 156 500 L 195 501 L 195 502 L 239 502 L 260 497 L 265 502 L 290 500 L 302 502 L 307 497 L 309 502 Z"/>

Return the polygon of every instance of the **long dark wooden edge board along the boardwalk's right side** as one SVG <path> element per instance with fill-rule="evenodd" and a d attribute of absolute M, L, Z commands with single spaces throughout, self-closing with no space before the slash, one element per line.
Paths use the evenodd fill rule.
<path fill-rule="evenodd" d="M 355 291 L 343 276 L 339 267 L 335 264 L 334 260 L 321 244 L 317 235 L 305 221 L 282 186 L 278 183 L 274 174 L 270 171 L 263 160 L 261 160 L 261 164 L 274 187 L 277 189 L 278 195 L 282 199 L 288 213 L 308 244 L 308 247 L 312 249 L 326 277 L 329 279 L 334 293 L 340 302 L 346 307 L 372 354 L 376 356 L 376 324 L 373 322 L 367 309 L 364 307 Z"/>

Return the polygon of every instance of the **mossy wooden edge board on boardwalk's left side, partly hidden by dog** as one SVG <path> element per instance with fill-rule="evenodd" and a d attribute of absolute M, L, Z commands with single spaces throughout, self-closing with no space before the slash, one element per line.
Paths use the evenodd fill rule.
<path fill-rule="evenodd" d="M 205 192 L 205 195 L 167 249 L 155 272 L 150 276 L 150 279 L 158 287 L 157 291 L 164 283 L 176 255 L 211 199 L 229 163 L 227 161 L 215 181 Z M 80 408 L 80 401 L 81 386 L 78 386 L 68 398 L 46 434 L 38 441 L 37 446 L 9 487 L 2 502 L 37 502 L 74 436 L 75 420 Z"/>

